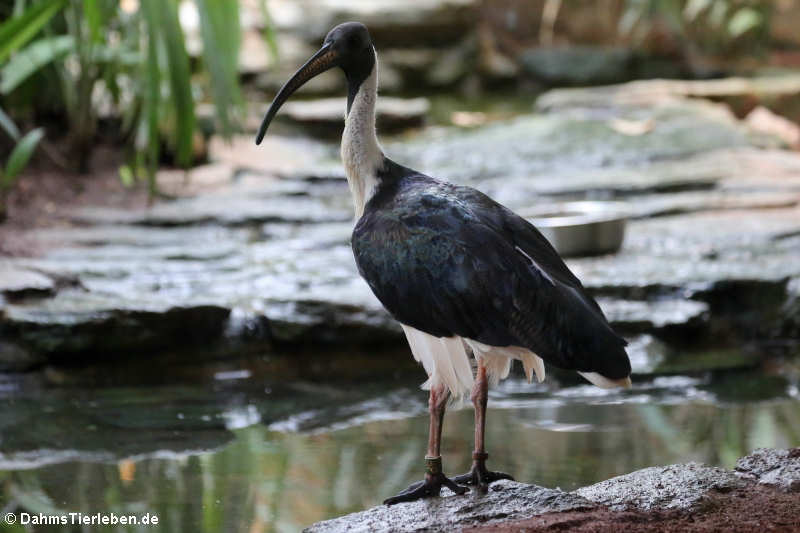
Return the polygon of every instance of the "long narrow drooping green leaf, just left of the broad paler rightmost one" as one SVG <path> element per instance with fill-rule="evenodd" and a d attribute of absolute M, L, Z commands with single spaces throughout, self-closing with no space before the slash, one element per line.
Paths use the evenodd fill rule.
<path fill-rule="evenodd" d="M 159 2 L 159 9 L 161 35 L 167 55 L 170 97 L 175 110 L 175 156 L 178 165 L 187 167 L 192 162 L 195 124 L 189 55 L 186 53 L 183 30 L 178 20 L 177 2 Z"/>

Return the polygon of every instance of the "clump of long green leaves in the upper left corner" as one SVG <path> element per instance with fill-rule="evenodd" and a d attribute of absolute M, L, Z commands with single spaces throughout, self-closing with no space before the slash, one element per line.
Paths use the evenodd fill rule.
<path fill-rule="evenodd" d="M 151 192 L 160 163 L 195 160 L 197 101 L 213 102 L 215 129 L 229 136 L 242 114 L 239 4 L 193 3 L 203 46 L 195 64 L 179 20 L 185 2 L 15 0 L 0 7 L 0 126 L 14 145 L 0 189 L 44 142 L 41 127 L 23 136 L 19 123 L 46 127 L 61 147 L 46 154 L 78 171 L 87 170 L 105 126 L 129 154 L 122 179 L 144 178 Z"/>

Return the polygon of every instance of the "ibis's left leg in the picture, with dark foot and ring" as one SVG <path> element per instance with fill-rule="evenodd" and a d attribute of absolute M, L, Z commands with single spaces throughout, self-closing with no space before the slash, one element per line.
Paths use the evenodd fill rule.
<path fill-rule="evenodd" d="M 455 484 L 442 473 L 442 457 L 440 455 L 442 421 L 449 396 L 450 391 L 444 385 L 431 387 L 431 395 L 428 400 L 430 430 L 428 432 L 428 453 L 425 455 L 425 479 L 409 486 L 397 496 L 384 500 L 383 503 L 386 505 L 438 496 L 443 486 L 456 494 L 464 494 L 469 490 L 467 487 Z"/>

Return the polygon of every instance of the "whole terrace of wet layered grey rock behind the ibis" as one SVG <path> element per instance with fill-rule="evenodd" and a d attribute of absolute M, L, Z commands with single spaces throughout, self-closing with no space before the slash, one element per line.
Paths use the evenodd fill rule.
<path fill-rule="evenodd" d="M 581 99 L 569 93 L 543 115 L 469 131 L 431 128 L 386 151 L 520 212 L 556 197 L 629 201 L 634 220 L 619 253 L 568 261 L 626 333 L 666 344 L 743 333 L 791 338 L 793 326 L 784 326 L 793 308 L 784 304 L 787 280 L 800 278 L 800 158 L 754 148 L 748 131 L 708 102 Z M 621 133 L 617 118 L 652 128 Z M 4 340 L 48 357 L 70 354 L 61 360 L 116 350 L 110 331 L 134 347 L 179 349 L 170 328 L 199 310 L 211 317 L 203 342 L 215 356 L 221 346 L 401 342 L 358 278 L 336 147 L 280 136 L 256 147 L 241 136 L 214 140 L 210 150 L 195 197 L 149 210 L 84 209 L 74 218 L 88 226 L 37 230 L 48 252 L 9 260 L 11 268 L 78 283 L 4 305 Z M 173 308 L 183 311 L 169 315 Z M 663 362 L 671 366 L 648 364 L 653 372 L 694 372 L 724 368 L 723 359 L 697 357 L 702 364 L 692 366 L 670 355 Z"/>

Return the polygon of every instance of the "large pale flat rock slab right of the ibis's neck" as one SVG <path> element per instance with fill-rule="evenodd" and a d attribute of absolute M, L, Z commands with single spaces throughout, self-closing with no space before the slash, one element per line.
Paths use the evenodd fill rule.
<path fill-rule="evenodd" d="M 625 135 L 612 127 L 616 117 L 651 118 L 654 127 L 645 135 Z M 677 161 L 750 144 L 746 129 L 719 107 L 669 100 L 604 112 L 572 107 L 470 131 L 430 130 L 389 144 L 387 152 L 412 168 L 492 194 L 508 187 L 517 198 L 512 207 L 518 207 L 539 194 L 708 188 L 721 178 L 719 161 L 699 168 Z"/>

